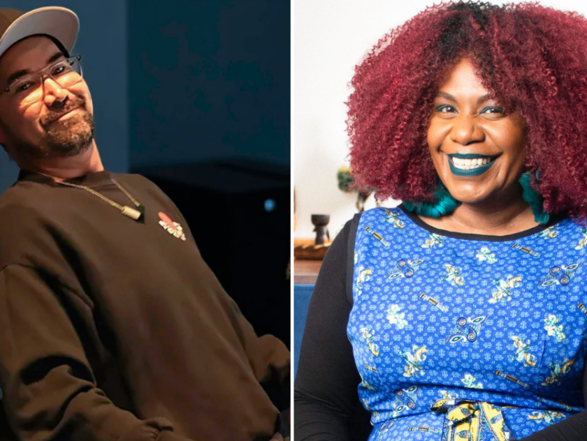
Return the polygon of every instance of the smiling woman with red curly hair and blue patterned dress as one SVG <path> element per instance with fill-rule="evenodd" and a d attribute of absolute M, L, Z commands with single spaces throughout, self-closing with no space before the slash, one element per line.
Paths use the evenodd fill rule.
<path fill-rule="evenodd" d="M 352 85 L 356 183 L 404 203 L 324 260 L 296 441 L 586 440 L 587 21 L 435 6 Z"/>

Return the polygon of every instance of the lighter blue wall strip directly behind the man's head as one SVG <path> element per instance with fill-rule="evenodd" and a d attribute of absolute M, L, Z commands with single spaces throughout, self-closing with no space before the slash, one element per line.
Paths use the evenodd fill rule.
<path fill-rule="evenodd" d="M 128 154 L 128 87 L 126 82 L 126 0 L 3 0 L 2 8 L 31 10 L 42 6 L 70 8 L 80 17 L 73 54 L 82 55 L 84 77 L 92 92 L 96 143 L 104 167 L 126 172 Z M 0 149 L 0 193 L 14 183 L 17 167 Z"/>

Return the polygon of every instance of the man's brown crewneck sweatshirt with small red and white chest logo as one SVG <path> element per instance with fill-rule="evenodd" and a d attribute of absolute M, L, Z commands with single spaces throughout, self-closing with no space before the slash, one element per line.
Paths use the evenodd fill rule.
<path fill-rule="evenodd" d="M 30 172 L 0 197 L 10 427 L 34 441 L 268 440 L 289 406 L 287 348 L 256 336 L 152 182 L 69 182 L 134 207 L 111 177 L 143 204 L 144 223 Z"/>

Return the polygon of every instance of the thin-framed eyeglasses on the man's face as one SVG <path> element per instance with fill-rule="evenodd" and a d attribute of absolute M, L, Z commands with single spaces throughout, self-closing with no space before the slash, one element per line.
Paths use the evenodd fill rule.
<path fill-rule="evenodd" d="M 46 68 L 34 73 L 22 75 L 18 80 L 0 91 L 0 96 L 8 94 L 11 99 L 21 105 L 31 105 L 41 100 L 45 94 L 44 85 L 47 78 L 57 82 L 60 87 L 67 89 L 82 80 L 81 55 L 57 61 Z"/>

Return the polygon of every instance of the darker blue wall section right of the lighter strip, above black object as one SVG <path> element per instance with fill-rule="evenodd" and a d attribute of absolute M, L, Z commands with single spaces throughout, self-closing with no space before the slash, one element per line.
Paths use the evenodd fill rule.
<path fill-rule="evenodd" d="M 289 1 L 128 2 L 131 168 L 289 167 Z"/>

